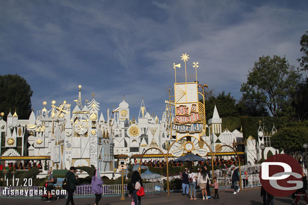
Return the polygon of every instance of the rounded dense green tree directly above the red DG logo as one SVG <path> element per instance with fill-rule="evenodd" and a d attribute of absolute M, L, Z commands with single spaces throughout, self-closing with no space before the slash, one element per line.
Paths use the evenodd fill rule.
<path fill-rule="evenodd" d="M 279 129 L 271 138 L 271 146 L 283 149 L 284 153 L 300 159 L 302 146 L 308 143 L 308 128 L 306 126 L 291 126 Z"/>

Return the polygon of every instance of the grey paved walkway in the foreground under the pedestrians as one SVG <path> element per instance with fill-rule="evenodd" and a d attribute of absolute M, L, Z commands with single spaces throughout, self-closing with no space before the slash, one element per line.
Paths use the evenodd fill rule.
<path fill-rule="evenodd" d="M 167 196 L 165 192 L 147 193 L 141 198 L 141 204 L 153 204 L 153 205 L 180 205 L 180 204 L 222 204 L 222 205 L 237 205 L 237 204 L 250 204 L 250 205 L 262 205 L 262 197 L 260 196 L 260 187 L 253 189 L 241 190 L 238 194 L 232 194 L 231 189 L 219 189 L 220 199 L 208 199 L 202 200 L 201 192 L 197 192 L 197 200 L 190 200 L 186 195 L 182 195 L 181 192 L 170 192 L 170 196 Z M 213 193 L 212 193 L 213 195 Z M 99 201 L 99 205 L 130 205 L 130 199 L 127 197 L 125 200 L 120 200 L 121 196 L 103 196 Z M 87 197 L 74 197 L 76 205 L 93 205 L 94 196 Z M 36 205 L 36 204 L 50 204 L 60 205 L 65 204 L 66 198 L 61 198 L 59 201 L 44 202 L 39 198 L 0 198 L 0 205 Z M 274 198 L 275 205 L 291 204 L 291 197 L 276 197 Z M 306 204 L 301 198 L 299 204 Z"/>

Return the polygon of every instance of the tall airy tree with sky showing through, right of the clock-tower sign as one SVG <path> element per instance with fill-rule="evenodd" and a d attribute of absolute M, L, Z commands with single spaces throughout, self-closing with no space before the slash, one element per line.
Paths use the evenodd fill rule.
<path fill-rule="evenodd" d="M 295 91 L 297 80 L 297 72 L 290 69 L 285 57 L 262 56 L 254 62 L 240 91 L 244 100 L 256 100 L 273 116 L 280 116 L 290 107 L 290 95 Z"/>

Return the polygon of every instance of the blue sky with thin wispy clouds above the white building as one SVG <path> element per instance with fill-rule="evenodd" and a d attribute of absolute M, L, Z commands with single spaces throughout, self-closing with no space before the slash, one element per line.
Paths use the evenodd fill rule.
<path fill-rule="evenodd" d="M 125 95 L 131 116 L 144 97 L 161 117 L 182 53 L 188 79 L 198 61 L 200 83 L 239 99 L 260 56 L 285 55 L 298 66 L 307 11 L 307 1 L 2 0 L 0 75 L 27 80 L 35 111 L 52 100 L 74 107 L 81 84 L 83 101 L 95 93 L 105 116 Z"/>

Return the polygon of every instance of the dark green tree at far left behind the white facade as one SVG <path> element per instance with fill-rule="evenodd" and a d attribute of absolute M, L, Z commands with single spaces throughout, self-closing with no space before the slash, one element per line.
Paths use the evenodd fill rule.
<path fill-rule="evenodd" d="M 19 119 L 28 119 L 32 94 L 30 85 L 17 74 L 0 76 L 0 112 L 4 112 L 5 116 L 10 108 L 12 111 L 16 108 Z"/>

